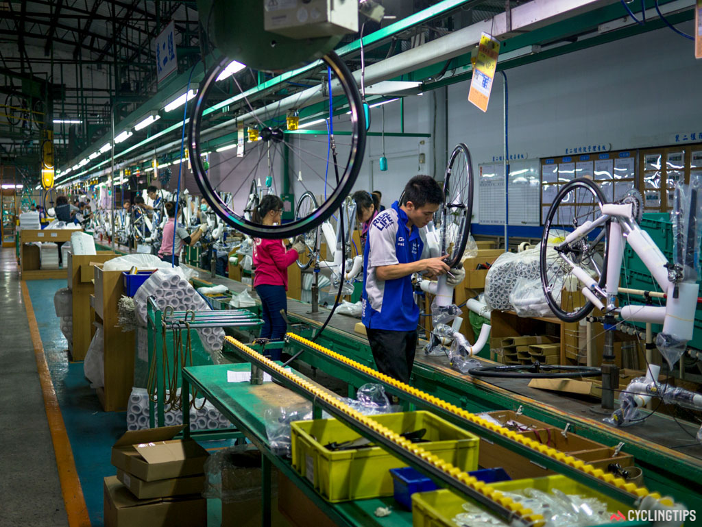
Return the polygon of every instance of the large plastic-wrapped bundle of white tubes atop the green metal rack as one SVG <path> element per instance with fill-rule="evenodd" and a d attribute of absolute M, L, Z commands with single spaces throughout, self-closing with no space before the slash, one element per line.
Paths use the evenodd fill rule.
<path fill-rule="evenodd" d="M 110 260 L 112 261 L 112 260 Z M 137 321 L 141 326 L 146 326 L 147 299 L 153 296 L 156 305 L 163 310 L 166 306 L 173 306 L 176 311 L 194 309 L 196 311 L 211 311 L 207 302 L 197 294 L 197 291 L 173 269 L 159 269 L 154 272 L 134 295 Z M 212 356 L 215 364 L 222 362 L 220 350 L 224 342 L 222 328 L 200 328 L 197 330 L 202 346 Z"/>

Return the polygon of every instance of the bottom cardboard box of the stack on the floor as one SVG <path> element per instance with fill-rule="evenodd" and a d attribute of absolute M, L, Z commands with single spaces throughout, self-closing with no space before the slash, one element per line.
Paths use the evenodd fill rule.
<path fill-rule="evenodd" d="M 105 527 L 202 527 L 207 524 L 207 500 L 199 494 L 179 498 L 138 500 L 119 483 L 105 478 Z"/>

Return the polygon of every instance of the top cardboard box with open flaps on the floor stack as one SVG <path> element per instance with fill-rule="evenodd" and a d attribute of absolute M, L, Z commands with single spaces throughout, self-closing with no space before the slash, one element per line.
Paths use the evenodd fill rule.
<path fill-rule="evenodd" d="M 144 481 L 202 474 L 208 453 L 192 439 L 173 439 L 183 428 L 126 432 L 112 446 L 112 465 Z"/>

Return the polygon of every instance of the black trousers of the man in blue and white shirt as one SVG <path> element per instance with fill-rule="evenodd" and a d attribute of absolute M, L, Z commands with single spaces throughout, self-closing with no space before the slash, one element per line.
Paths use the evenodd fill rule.
<path fill-rule="evenodd" d="M 417 330 L 390 331 L 368 328 L 366 333 L 378 371 L 409 384 L 417 349 Z"/>

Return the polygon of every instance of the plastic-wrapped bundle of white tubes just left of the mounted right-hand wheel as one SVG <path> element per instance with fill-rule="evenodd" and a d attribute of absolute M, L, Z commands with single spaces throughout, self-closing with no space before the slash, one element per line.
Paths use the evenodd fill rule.
<path fill-rule="evenodd" d="M 539 251 L 504 253 L 490 267 L 485 277 L 485 303 L 490 309 L 512 309 L 510 293 L 520 278 L 540 280 Z M 545 300 L 544 300 L 545 301 Z"/>

